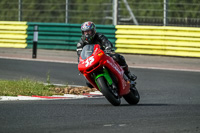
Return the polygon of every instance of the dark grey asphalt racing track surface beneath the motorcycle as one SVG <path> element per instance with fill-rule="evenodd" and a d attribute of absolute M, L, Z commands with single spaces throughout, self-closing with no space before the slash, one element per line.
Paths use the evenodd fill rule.
<path fill-rule="evenodd" d="M 114 107 L 105 98 L 1 101 L 1 133 L 199 133 L 200 72 L 130 69 L 141 100 Z M 0 79 L 85 85 L 77 64 L 0 59 Z"/>

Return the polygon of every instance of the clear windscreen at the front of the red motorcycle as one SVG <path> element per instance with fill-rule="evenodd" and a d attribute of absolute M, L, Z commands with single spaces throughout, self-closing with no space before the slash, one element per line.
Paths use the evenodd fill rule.
<path fill-rule="evenodd" d="M 94 46 L 95 46 L 94 44 L 85 45 L 81 52 L 81 58 L 86 59 L 89 56 L 91 56 L 92 53 L 94 52 Z"/>

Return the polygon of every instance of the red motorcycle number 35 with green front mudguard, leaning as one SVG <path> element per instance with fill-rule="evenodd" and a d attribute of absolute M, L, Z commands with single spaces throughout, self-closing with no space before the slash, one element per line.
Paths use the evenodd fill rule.
<path fill-rule="evenodd" d="M 136 82 L 124 74 L 123 68 L 101 50 L 99 44 L 83 47 L 78 69 L 112 105 L 119 106 L 122 97 L 131 105 L 139 102 L 140 95 L 136 89 Z"/>

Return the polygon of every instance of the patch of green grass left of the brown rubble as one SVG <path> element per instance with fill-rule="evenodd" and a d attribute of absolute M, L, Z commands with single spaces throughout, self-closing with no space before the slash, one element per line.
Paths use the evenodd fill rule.
<path fill-rule="evenodd" d="M 0 80 L 0 96 L 51 96 L 58 94 L 55 86 L 44 85 L 41 82 L 29 79 L 21 80 Z"/>

